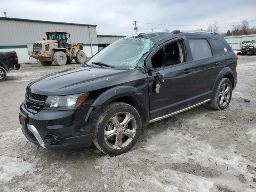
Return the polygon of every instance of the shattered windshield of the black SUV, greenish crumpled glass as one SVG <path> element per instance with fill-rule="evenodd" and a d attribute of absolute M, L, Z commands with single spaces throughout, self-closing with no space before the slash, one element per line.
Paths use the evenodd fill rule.
<path fill-rule="evenodd" d="M 150 39 L 129 36 L 110 44 L 86 64 L 103 63 L 114 68 L 133 69 L 152 46 L 153 42 Z"/>

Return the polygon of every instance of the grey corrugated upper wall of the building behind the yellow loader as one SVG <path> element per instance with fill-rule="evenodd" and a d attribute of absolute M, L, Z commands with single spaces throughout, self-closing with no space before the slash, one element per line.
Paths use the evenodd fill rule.
<path fill-rule="evenodd" d="M 89 26 L 1 18 L 0 46 L 24 46 L 46 38 L 45 32 L 50 31 L 65 31 L 70 33 L 69 40 L 73 40 L 75 43 L 90 44 Z M 98 44 L 96 26 L 90 26 L 90 35 L 92 44 Z"/>

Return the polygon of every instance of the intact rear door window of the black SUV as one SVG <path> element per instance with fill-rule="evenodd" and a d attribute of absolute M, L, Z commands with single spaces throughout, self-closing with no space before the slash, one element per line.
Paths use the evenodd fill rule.
<path fill-rule="evenodd" d="M 188 39 L 193 60 L 212 57 L 210 44 L 206 39 Z"/>

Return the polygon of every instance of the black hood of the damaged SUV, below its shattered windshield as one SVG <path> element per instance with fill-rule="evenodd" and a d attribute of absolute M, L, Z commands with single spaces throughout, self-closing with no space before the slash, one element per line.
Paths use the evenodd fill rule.
<path fill-rule="evenodd" d="M 46 96 L 90 92 L 109 84 L 113 85 L 114 82 L 118 82 L 117 79 L 122 78 L 122 74 L 128 71 L 80 66 L 44 76 L 30 83 L 28 89 L 33 93 Z"/>

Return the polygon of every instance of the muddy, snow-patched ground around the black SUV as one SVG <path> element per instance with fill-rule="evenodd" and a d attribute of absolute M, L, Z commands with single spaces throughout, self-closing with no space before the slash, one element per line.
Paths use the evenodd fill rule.
<path fill-rule="evenodd" d="M 150 124 L 130 152 L 116 157 L 94 146 L 45 150 L 23 136 L 18 106 L 26 85 L 70 66 L 22 66 L 0 84 L 0 191 L 256 191 L 256 56 L 239 56 L 226 110 L 204 104 Z"/>

